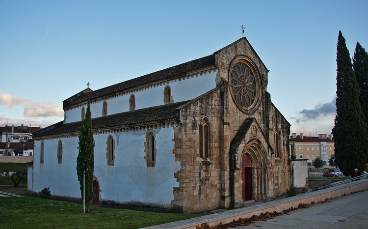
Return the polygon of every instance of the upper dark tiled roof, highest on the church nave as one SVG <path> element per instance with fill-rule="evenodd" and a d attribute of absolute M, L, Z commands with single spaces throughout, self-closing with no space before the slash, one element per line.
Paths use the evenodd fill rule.
<path fill-rule="evenodd" d="M 170 68 L 166 68 L 157 72 L 153 72 L 135 79 L 131 79 L 119 84 L 115 84 L 112 86 L 107 86 L 95 91 L 91 91 L 89 93 L 81 93 L 79 92 L 79 96 L 72 96 L 63 101 L 63 108 L 67 108 L 74 104 L 78 104 L 81 102 L 86 102 L 88 99 L 92 100 L 101 96 L 113 94 L 119 91 L 124 91 L 130 88 L 143 86 L 145 84 L 154 83 L 160 80 L 169 80 L 173 79 L 177 76 L 186 75 L 189 72 L 199 70 L 202 68 L 215 66 L 215 55 L 212 54 L 207 57 L 202 57 L 199 59 L 195 59 L 186 63 L 182 63 Z"/>

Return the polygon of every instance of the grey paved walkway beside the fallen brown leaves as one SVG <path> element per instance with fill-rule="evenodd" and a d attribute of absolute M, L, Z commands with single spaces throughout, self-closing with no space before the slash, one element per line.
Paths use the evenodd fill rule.
<path fill-rule="evenodd" d="M 266 222 L 257 221 L 237 229 L 367 229 L 368 190 L 315 203 Z"/>

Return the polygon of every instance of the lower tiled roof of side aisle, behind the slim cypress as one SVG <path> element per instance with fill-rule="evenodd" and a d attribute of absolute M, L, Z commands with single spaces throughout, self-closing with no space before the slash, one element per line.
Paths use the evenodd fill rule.
<path fill-rule="evenodd" d="M 119 127 L 130 127 L 139 124 L 160 122 L 165 120 L 176 120 L 178 117 L 178 111 L 175 109 L 186 103 L 187 101 L 166 104 L 157 107 L 151 107 L 146 109 L 140 109 L 136 111 L 124 112 L 120 114 L 111 114 L 104 117 L 92 118 L 92 130 L 101 130 L 107 128 L 119 128 Z M 67 133 L 78 133 L 79 126 L 82 122 L 72 122 L 63 124 L 59 122 L 52 126 L 43 128 L 33 133 L 33 138 L 67 134 Z"/>

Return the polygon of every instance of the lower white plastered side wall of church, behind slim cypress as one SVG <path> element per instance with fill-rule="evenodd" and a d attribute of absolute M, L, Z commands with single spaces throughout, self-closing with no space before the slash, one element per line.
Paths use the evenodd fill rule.
<path fill-rule="evenodd" d="M 154 129 L 156 135 L 156 166 L 147 167 L 144 159 L 146 130 L 94 135 L 95 171 L 100 182 L 101 199 L 117 202 L 138 201 L 158 207 L 170 207 L 173 188 L 179 187 L 174 173 L 180 162 L 173 154 L 172 127 Z M 107 166 L 106 140 L 115 141 L 114 166 Z M 39 163 L 40 141 L 35 142 L 33 191 L 50 187 L 52 195 L 80 198 L 76 166 L 78 138 L 61 139 L 63 160 L 57 163 L 58 139 L 44 141 L 44 163 Z"/>

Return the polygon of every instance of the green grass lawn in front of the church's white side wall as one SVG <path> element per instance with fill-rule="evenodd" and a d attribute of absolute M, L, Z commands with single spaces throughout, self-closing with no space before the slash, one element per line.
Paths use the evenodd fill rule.
<path fill-rule="evenodd" d="M 78 203 L 32 197 L 0 197 L 1 229 L 136 229 L 180 221 L 205 214 L 133 211 L 91 206 L 83 213 Z"/>

